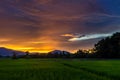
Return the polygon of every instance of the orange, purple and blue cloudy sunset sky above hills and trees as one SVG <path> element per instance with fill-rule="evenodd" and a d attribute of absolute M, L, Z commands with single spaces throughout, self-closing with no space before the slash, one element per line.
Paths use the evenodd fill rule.
<path fill-rule="evenodd" d="M 120 0 L 0 0 L 0 47 L 90 49 L 120 31 Z"/>

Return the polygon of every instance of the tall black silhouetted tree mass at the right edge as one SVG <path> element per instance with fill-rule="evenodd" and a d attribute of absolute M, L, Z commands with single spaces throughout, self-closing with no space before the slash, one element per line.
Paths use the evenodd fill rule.
<path fill-rule="evenodd" d="M 120 58 L 120 33 L 117 32 L 95 44 L 95 55 L 100 58 Z"/>

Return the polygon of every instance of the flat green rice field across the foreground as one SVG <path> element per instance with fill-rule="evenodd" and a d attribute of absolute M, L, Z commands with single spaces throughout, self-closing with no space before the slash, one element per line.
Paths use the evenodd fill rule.
<path fill-rule="evenodd" d="M 120 60 L 0 59 L 0 80 L 120 80 Z"/>

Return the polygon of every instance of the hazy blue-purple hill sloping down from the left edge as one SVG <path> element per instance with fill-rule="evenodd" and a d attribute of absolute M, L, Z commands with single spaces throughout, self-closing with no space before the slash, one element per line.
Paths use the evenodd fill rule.
<path fill-rule="evenodd" d="M 0 47 L 0 56 L 2 57 L 7 57 L 7 56 L 11 57 L 13 56 L 14 53 L 16 53 L 16 56 L 26 55 L 26 53 L 22 51 L 16 51 L 16 50 Z"/>

